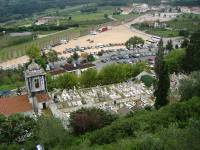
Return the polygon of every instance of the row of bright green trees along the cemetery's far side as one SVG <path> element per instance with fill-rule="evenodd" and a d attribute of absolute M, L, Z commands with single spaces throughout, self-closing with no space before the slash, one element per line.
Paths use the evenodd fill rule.
<path fill-rule="evenodd" d="M 65 73 L 55 79 L 47 76 L 48 89 L 54 88 L 73 89 L 74 87 L 94 87 L 97 85 L 107 85 L 124 82 L 130 78 L 137 76 L 145 70 L 144 62 L 137 64 L 111 64 L 102 68 L 99 72 L 96 69 L 89 69 L 77 77 L 71 73 Z"/>

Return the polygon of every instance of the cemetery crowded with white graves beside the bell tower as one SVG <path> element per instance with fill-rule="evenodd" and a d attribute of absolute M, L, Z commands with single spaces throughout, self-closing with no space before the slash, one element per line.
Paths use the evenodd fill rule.
<path fill-rule="evenodd" d="M 54 101 L 50 109 L 55 117 L 66 120 L 70 112 L 96 107 L 112 113 L 126 109 L 133 111 L 154 105 L 153 88 L 139 81 L 97 86 L 85 89 L 59 90 L 50 93 Z"/>

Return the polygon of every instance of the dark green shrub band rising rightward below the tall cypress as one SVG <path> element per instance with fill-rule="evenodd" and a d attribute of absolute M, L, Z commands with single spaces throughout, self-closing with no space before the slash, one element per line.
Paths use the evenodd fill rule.
<path fill-rule="evenodd" d="M 172 123 L 184 128 L 189 124 L 190 118 L 199 118 L 199 107 L 200 98 L 196 97 L 190 101 L 168 105 L 158 111 L 140 111 L 91 133 L 89 140 L 91 144 L 108 144 L 129 136 L 134 137 L 136 133 L 156 133 Z"/>

